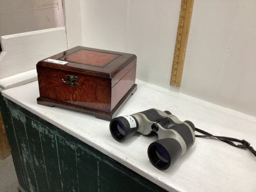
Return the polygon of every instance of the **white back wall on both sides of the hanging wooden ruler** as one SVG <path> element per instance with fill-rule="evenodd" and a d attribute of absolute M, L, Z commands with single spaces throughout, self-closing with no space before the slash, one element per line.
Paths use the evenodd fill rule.
<path fill-rule="evenodd" d="M 195 0 L 178 89 L 169 80 L 180 4 L 80 0 L 82 45 L 134 53 L 138 79 L 256 116 L 256 2 Z"/>

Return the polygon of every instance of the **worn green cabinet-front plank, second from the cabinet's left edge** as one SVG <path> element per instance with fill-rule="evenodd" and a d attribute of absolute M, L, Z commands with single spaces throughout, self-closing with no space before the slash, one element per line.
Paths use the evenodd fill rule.
<path fill-rule="evenodd" d="M 26 131 L 26 118 L 21 112 L 11 109 L 11 119 L 14 127 L 14 132 L 19 148 L 20 157 L 23 162 L 25 177 L 29 189 L 28 191 L 38 191 L 38 186 L 35 178 L 34 167 L 31 158 L 30 146 L 28 144 Z M 18 138 L 18 139 L 17 139 Z"/>

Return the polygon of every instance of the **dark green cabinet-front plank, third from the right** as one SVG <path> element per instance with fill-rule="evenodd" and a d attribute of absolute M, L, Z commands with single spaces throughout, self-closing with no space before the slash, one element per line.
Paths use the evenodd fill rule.
<path fill-rule="evenodd" d="M 98 192 L 97 159 L 79 147 L 76 153 L 79 191 Z"/>

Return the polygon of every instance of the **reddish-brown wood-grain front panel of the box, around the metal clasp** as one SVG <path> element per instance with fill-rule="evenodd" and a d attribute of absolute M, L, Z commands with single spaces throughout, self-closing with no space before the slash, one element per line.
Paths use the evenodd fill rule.
<path fill-rule="evenodd" d="M 66 75 L 78 77 L 78 87 L 61 82 Z M 111 81 L 95 76 L 85 76 L 67 71 L 46 69 L 38 74 L 40 97 L 65 101 L 87 108 L 111 112 Z"/>

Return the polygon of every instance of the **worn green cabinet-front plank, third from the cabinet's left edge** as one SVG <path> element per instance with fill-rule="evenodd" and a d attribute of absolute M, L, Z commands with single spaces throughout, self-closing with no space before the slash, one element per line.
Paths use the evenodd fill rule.
<path fill-rule="evenodd" d="M 35 178 L 37 181 L 39 192 L 50 191 L 47 170 L 45 165 L 44 152 L 42 151 L 40 133 L 38 128 L 40 125 L 35 123 L 31 118 L 26 117 L 27 138 L 34 167 Z"/>

